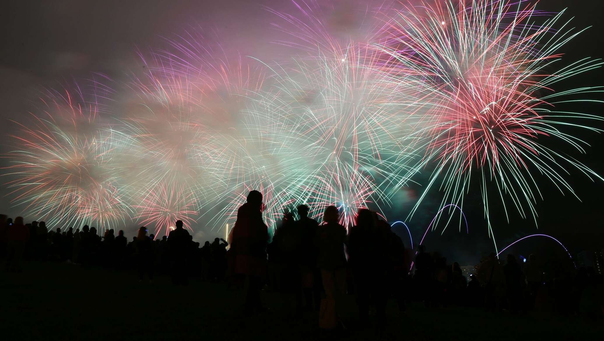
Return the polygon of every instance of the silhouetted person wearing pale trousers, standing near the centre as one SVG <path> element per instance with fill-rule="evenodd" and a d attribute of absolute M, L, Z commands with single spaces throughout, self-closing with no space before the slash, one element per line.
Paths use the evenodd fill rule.
<path fill-rule="evenodd" d="M 338 321 L 339 303 L 346 293 L 346 229 L 338 223 L 336 206 L 327 206 L 323 212 L 324 225 L 317 228 L 315 246 L 316 266 L 321 270 L 325 300 L 321 301 L 320 327 L 334 328 Z"/>

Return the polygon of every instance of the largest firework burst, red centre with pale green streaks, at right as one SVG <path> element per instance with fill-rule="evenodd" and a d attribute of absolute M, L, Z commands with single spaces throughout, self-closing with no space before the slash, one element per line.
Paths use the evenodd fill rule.
<path fill-rule="evenodd" d="M 440 182 L 443 205 L 461 206 L 475 178 L 487 221 L 491 183 L 506 214 L 510 199 L 523 217 L 536 219 L 535 171 L 571 193 L 566 165 L 599 177 L 545 144 L 558 138 L 583 151 L 583 141 L 562 129 L 579 126 L 571 120 L 600 118 L 558 108 L 563 96 L 599 89 L 554 88 L 601 65 L 585 59 L 551 72 L 561 60 L 559 48 L 579 32 L 565 31 L 565 25 L 556 29 L 562 13 L 535 24 L 546 14 L 535 3 L 497 0 L 423 3 L 397 11 L 391 37 L 375 46 L 384 53 L 381 71 L 415 89 L 413 105 L 422 107 L 412 119 L 416 129 L 410 137 L 416 142 L 410 147 L 435 167 L 423 196 Z"/>

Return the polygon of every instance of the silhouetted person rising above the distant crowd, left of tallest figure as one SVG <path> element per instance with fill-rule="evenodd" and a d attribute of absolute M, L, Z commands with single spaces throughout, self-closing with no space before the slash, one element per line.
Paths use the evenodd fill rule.
<path fill-rule="evenodd" d="M 187 285 L 187 261 L 190 234 L 182 228 L 182 220 L 176 221 L 176 229 L 170 231 L 168 236 L 168 248 L 170 260 L 172 261 L 172 282 L 174 284 Z"/>

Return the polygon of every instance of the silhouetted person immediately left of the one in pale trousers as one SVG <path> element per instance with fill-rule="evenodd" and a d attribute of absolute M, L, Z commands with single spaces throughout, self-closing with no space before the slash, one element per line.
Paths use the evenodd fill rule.
<path fill-rule="evenodd" d="M 316 267 L 315 235 L 319 223 L 309 218 L 310 211 L 307 205 L 298 205 L 296 208 L 300 220 L 296 221 L 300 235 L 300 278 L 302 290 L 308 308 L 319 308 L 321 304 L 321 273 Z M 313 304 L 314 299 L 314 304 Z"/>

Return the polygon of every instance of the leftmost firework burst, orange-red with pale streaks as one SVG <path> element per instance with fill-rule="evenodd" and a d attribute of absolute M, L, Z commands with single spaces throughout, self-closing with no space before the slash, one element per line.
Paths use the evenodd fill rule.
<path fill-rule="evenodd" d="M 13 136 L 19 145 L 8 155 L 13 164 L 7 175 L 14 178 L 8 184 L 14 203 L 49 226 L 95 221 L 102 231 L 129 218 L 129 209 L 114 185 L 100 105 L 84 98 L 79 88 L 40 97 L 41 114 L 31 113 Z"/>

